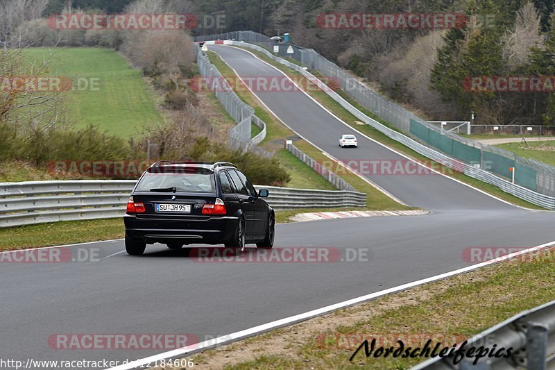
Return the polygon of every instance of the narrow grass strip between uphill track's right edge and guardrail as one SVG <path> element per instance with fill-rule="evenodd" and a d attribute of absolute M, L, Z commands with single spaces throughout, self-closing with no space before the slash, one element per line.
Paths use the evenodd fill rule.
<path fill-rule="evenodd" d="M 294 78 L 303 78 L 302 75 L 299 74 L 298 72 L 293 71 L 289 67 L 285 67 L 284 65 L 281 65 L 280 63 L 271 60 L 270 58 L 268 58 L 267 56 L 265 56 L 263 53 L 261 53 L 259 51 L 248 49 L 246 47 L 241 47 L 241 49 L 245 49 L 247 51 L 250 51 L 251 53 L 254 53 L 258 58 L 260 58 L 260 59 L 264 60 L 265 62 L 268 62 L 269 64 L 273 65 L 274 67 L 280 69 L 280 71 L 287 74 L 287 76 L 291 76 L 291 77 L 294 77 Z M 310 84 L 311 84 L 310 81 L 306 81 L 304 84 L 302 84 L 302 87 L 311 86 Z M 444 167 L 443 165 L 441 165 L 437 162 L 431 161 L 431 160 L 429 160 L 429 158 L 425 157 L 424 155 L 421 155 L 421 154 L 417 153 L 416 151 L 413 151 L 412 149 L 408 148 L 407 146 L 404 146 L 403 144 L 401 144 L 400 142 L 397 142 L 397 141 L 391 139 L 390 137 L 384 135 L 383 133 L 377 131 L 372 126 L 369 126 L 369 125 L 366 125 L 366 124 L 365 125 L 357 124 L 356 123 L 358 121 L 357 117 L 355 117 L 350 112 L 348 112 L 348 110 L 345 110 L 345 108 L 343 108 L 339 103 L 334 101 L 325 92 L 323 92 L 322 90 L 317 90 L 316 87 L 314 87 L 314 88 L 312 88 L 312 87 L 314 87 L 314 85 L 312 85 L 311 88 L 307 88 L 307 92 L 314 99 L 316 99 L 316 101 L 318 101 L 323 106 L 325 106 L 328 110 L 330 110 L 330 112 L 332 112 L 334 115 L 339 117 L 342 121 L 347 123 L 349 126 L 352 126 L 352 128 L 355 128 L 358 131 L 360 131 L 361 133 L 364 133 L 365 135 L 367 135 L 368 137 L 371 137 L 373 140 L 376 140 L 377 142 L 381 142 L 382 144 L 388 146 L 389 148 L 395 149 L 395 151 L 399 151 L 400 153 L 403 153 L 404 155 L 407 155 L 409 158 L 412 158 L 413 160 L 416 160 L 418 162 L 429 163 L 431 166 L 433 166 L 434 169 L 438 169 L 438 171 L 441 171 L 442 174 L 446 174 L 447 176 L 450 176 L 452 178 L 456 178 L 456 180 L 459 180 L 463 183 L 466 183 L 468 185 L 476 187 L 477 189 L 483 190 L 484 192 L 488 192 L 489 194 L 492 194 L 493 196 L 497 196 L 497 198 L 499 198 L 499 199 L 503 199 L 504 201 L 508 201 L 509 203 L 513 203 L 515 205 L 519 205 L 519 206 L 524 207 L 524 208 L 531 208 L 531 209 L 535 209 L 535 210 L 543 210 L 544 209 L 542 207 L 539 207 L 538 205 L 534 205 L 534 204 L 529 203 L 527 201 L 524 201 L 524 200 L 522 200 L 522 199 L 520 199 L 516 196 L 513 196 L 509 193 L 506 193 L 506 192 L 502 191 L 501 189 L 499 189 L 498 187 L 486 184 L 486 183 L 484 183 L 480 180 L 477 180 L 477 179 L 472 178 L 470 176 L 466 176 L 465 174 L 461 174 L 460 172 L 452 171 L 451 169 L 448 169 L 447 167 Z M 317 91 L 315 91 L 315 90 L 317 90 Z M 357 101 L 352 99 L 345 92 L 343 92 L 341 90 L 338 90 L 336 92 L 338 94 L 340 94 L 343 97 L 343 99 L 345 99 L 349 103 L 351 103 L 352 106 L 355 106 L 355 108 L 361 110 L 361 112 L 363 112 L 365 115 L 368 115 L 368 117 L 373 118 L 376 121 L 379 121 L 379 123 L 384 124 L 385 126 L 388 126 L 389 128 L 391 128 L 395 131 L 399 131 L 396 128 L 393 128 L 393 126 L 391 126 L 391 124 L 389 124 L 388 122 L 386 122 L 383 119 L 377 117 L 373 112 L 370 112 L 366 108 L 362 107 L 359 103 L 357 103 Z M 349 181 L 349 180 L 347 180 L 347 181 Z"/>

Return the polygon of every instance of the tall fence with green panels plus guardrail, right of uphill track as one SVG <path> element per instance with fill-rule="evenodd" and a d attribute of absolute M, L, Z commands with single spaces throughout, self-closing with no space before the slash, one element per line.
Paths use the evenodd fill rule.
<path fill-rule="evenodd" d="M 329 68 L 318 69 L 318 66 L 326 65 L 325 62 L 320 59 L 323 57 L 318 54 L 318 58 L 315 59 L 318 60 L 318 62 L 314 62 L 309 65 L 309 67 L 318 69 L 318 72 L 329 78 L 336 78 L 339 80 L 343 90 L 352 96 L 355 92 L 362 90 L 364 94 L 368 95 L 368 99 L 362 100 L 361 96 L 366 95 L 363 94 L 359 96 L 358 93 L 356 93 L 353 97 L 359 101 L 362 106 L 365 106 L 365 108 L 368 108 L 368 101 L 374 101 L 375 106 L 368 109 L 373 110 L 373 112 L 377 115 L 391 122 L 391 124 L 395 126 L 395 129 L 389 128 L 375 119 L 368 117 L 359 109 L 355 108 L 355 106 L 352 106 L 351 103 L 343 99 L 343 97 L 334 92 L 332 89 L 328 88 L 325 83 L 318 80 L 318 78 L 308 72 L 307 69 L 300 67 L 296 63 L 289 62 L 288 60 L 273 55 L 273 53 L 264 47 L 248 43 L 248 38 L 251 35 L 250 31 L 246 33 L 241 31 L 236 34 L 237 35 L 234 35 L 233 38 L 241 41 L 228 41 L 226 43 L 260 51 L 268 56 L 268 58 L 296 70 L 306 78 L 310 78 L 312 82 L 321 87 L 326 94 L 343 106 L 343 108 L 352 113 L 352 115 L 357 117 L 357 119 L 373 126 L 378 131 L 384 133 L 388 137 L 391 137 L 391 139 L 401 142 L 414 151 L 425 155 L 427 158 L 441 162 L 446 167 L 463 172 L 464 174 L 472 178 L 477 178 L 485 183 L 495 185 L 504 192 L 513 194 L 514 196 L 529 201 L 530 203 L 555 210 L 554 167 L 543 165 L 542 163 L 533 160 L 526 160 L 524 158 L 517 157 L 509 151 L 504 151 L 494 146 L 487 146 L 473 140 L 466 140 L 465 138 L 459 137 L 454 133 L 441 133 L 441 128 L 436 128 L 436 126 L 428 124 L 427 121 L 420 119 L 412 112 L 396 106 L 395 103 L 386 101 L 386 99 L 382 96 L 374 93 L 376 96 L 370 99 L 368 97 L 370 95 L 368 94 L 370 94 L 371 90 L 359 83 L 355 78 L 349 76 L 346 72 L 341 71 L 339 67 L 335 66 L 335 69 L 333 70 Z M 225 35 L 217 36 L 225 37 Z M 246 37 L 246 39 L 244 40 L 240 37 Z M 257 43 L 260 44 L 260 37 L 257 36 L 255 39 L 257 40 Z M 310 49 L 303 50 L 305 50 L 305 52 L 309 52 L 307 50 Z M 312 51 L 310 53 L 316 52 Z M 302 59 L 301 62 L 302 65 L 305 65 L 307 58 L 303 58 L 304 59 Z M 334 65 L 329 61 L 328 64 Z M 400 131 L 406 132 L 412 137 L 404 135 Z M 512 177 L 512 171 L 510 170 L 511 167 L 513 167 L 513 171 L 515 171 L 515 183 L 512 183 L 512 179 L 509 180 L 509 178 Z"/>

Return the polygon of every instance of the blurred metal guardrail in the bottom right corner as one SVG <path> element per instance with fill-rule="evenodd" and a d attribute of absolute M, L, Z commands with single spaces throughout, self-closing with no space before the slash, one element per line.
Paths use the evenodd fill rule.
<path fill-rule="evenodd" d="M 433 358 L 413 367 L 414 370 L 452 369 L 555 369 L 555 301 L 520 312 L 468 340 L 467 348 L 484 346 L 513 348 L 509 358 L 464 358 L 453 364 L 452 358 Z"/>

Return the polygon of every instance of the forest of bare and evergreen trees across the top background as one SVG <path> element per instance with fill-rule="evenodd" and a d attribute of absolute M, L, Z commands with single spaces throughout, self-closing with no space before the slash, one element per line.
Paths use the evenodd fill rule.
<path fill-rule="evenodd" d="M 555 0 L 155 0 L 160 8 L 198 19 L 192 35 L 252 30 L 291 33 L 292 42 L 316 49 L 372 87 L 429 119 L 481 124 L 545 124 L 555 121 L 552 93 L 468 91 L 472 76 L 552 76 Z M 128 12 L 130 0 L 6 0 L 0 32 L 42 44 L 100 45 L 118 49 L 121 33 L 53 33 L 36 18 L 80 9 Z M 147 8 L 152 9 L 153 6 Z M 155 8 L 155 7 L 154 7 Z M 323 28 L 324 13 L 457 13 L 461 27 L 430 29 Z M 9 13 L 9 14 L 8 14 Z M 19 32 L 18 32 L 19 30 Z M 38 40 L 38 41 L 37 41 Z"/>

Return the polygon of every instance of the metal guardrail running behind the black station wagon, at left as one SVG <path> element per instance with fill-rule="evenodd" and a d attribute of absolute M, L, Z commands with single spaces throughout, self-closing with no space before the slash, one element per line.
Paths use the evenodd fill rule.
<path fill-rule="evenodd" d="M 0 228 L 44 222 L 122 217 L 135 180 L 0 183 Z M 360 207 L 366 194 L 256 185 L 270 190 L 275 210 Z"/>

